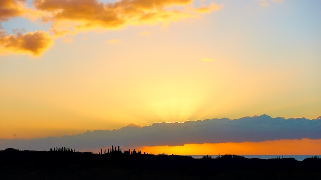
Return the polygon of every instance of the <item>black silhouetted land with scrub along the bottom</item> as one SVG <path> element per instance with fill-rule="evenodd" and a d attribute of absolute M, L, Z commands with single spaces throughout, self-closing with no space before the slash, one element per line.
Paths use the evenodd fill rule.
<path fill-rule="evenodd" d="M 0 151 L 0 179 L 321 179 L 321 158 Z"/>

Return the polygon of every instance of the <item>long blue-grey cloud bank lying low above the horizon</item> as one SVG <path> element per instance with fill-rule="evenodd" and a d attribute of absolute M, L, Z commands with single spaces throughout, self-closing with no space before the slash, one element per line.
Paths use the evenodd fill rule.
<path fill-rule="evenodd" d="M 0 140 L 0 149 L 8 147 L 30 150 L 48 150 L 65 146 L 75 149 L 91 149 L 121 145 L 157 146 L 184 145 L 188 143 L 260 142 L 278 139 L 321 139 L 321 117 L 306 118 L 268 115 L 187 121 L 184 123 L 153 123 L 151 126 L 129 125 L 117 130 L 95 130 L 83 134 L 41 139 Z"/>

